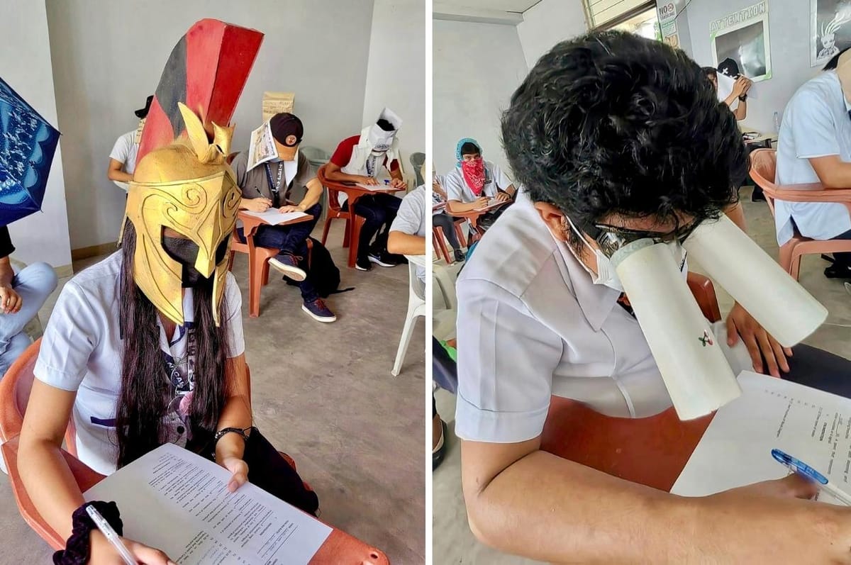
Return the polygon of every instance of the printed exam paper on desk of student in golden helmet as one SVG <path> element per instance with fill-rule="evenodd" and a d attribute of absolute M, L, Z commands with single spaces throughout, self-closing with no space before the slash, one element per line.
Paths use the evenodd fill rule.
<path fill-rule="evenodd" d="M 166 443 L 89 488 L 86 500 L 115 500 L 124 535 L 165 551 L 179 565 L 307 565 L 331 533 L 316 518 L 231 473 Z"/>

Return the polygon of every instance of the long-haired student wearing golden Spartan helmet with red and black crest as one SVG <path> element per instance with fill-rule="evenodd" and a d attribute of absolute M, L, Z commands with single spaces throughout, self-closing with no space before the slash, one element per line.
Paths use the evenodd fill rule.
<path fill-rule="evenodd" d="M 317 510 L 316 494 L 252 427 L 242 300 L 227 271 L 240 198 L 226 164 L 232 128 L 222 126 L 261 39 L 258 31 L 202 20 L 180 40 L 147 117 L 122 248 L 66 283 L 54 307 L 18 466 L 37 511 L 68 536 L 55 562 L 115 559 L 86 520 L 83 494 L 60 454 L 70 418 L 78 459 L 101 474 L 171 442 L 214 457 L 232 473 L 231 491 L 251 480 Z M 229 71 L 203 80 L 220 67 Z M 174 88 L 181 80 L 186 88 Z M 122 509 L 93 504 L 120 528 Z M 167 562 L 162 552 L 127 545 L 140 562 Z"/>

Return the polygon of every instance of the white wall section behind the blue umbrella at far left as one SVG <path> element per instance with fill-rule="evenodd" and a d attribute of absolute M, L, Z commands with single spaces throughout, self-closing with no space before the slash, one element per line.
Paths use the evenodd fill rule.
<path fill-rule="evenodd" d="M 44 0 L 3 3 L 0 37 L 7 47 L 0 51 L 0 77 L 55 127 L 56 102 Z M 12 243 L 17 248 L 14 257 L 26 263 L 41 260 L 54 267 L 71 265 L 61 151 L 61 147 L 68 145 L 66 134 L 56 148 L 42 213 L 9 225 Z"/>

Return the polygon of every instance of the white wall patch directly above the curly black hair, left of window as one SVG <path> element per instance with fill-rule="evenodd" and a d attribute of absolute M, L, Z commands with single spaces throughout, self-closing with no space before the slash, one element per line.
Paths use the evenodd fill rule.
<path fill-rule="evenodd" d="M 553 45 L 588 31 L 582 0 L 541 0 L 523 12 L 517 34 L 526 65 L 532 68 Z"/>

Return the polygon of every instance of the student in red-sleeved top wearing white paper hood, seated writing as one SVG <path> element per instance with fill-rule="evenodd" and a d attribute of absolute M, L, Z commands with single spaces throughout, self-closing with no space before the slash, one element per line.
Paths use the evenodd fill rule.
<path fill-rule="evenodd" d="M 363 128 L 360 135 L 340 141 L 340 145 L 325 167 L 328 180 L 378 185 L 378 176 L 386 168 L 390 185 L 408 188 L 403 180 L 402 159 L 399 157 L 399 140 L 396 134 L 402 127 L 402 118 L 390 108 L 381 111 L 375 123 Z M 345 192 L 338 193 L 340 207 L 348 209 Z M 387 233 L 399 210 L 399 198 L 378 192 L 360 197 L 355 203 L 355 214 L 364 219 L 357 242 L 358 271 L 369 271 L 372 264 L 392 267 L 404 261 L 401 255 L 387 252 Z M 375 238 L 373 241 L 373 237 Z"/>

